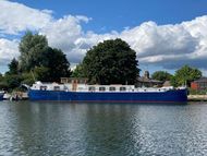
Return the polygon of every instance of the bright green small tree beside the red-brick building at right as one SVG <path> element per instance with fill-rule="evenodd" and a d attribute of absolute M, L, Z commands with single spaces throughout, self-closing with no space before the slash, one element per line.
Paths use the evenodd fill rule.
<path fill-rule="evenodd" d="M 172 76 L 171 79 L 171 84 L 173 86 L 180 86 L 184 84 L 190 86 L 191 82 L 199 79 L 200 76 L 202 72 L 198 69 L 184 65 L 178 71 L 175 71 L 174 76 Z"/>

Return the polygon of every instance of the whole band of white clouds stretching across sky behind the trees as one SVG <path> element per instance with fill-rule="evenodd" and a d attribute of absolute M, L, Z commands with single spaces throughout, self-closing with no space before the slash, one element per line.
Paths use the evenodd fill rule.
<path fill-rule="evenodd" d="M 174 25 L 157 25 L 149 21 L 136 27 L 127 27 L 121 33 L 96 34 L 83 31 L 82 22 L 92 20 L 87 16 L 65 15 L 56 20 L 50 10 L 32 9 L 4 0 L 0 1 L 0 36 L 26 29 L 38 31 L 47 36 L 50 46 L 62 49 L 72 64 L 78 63 L 86 50 L 99 41 L 119 37 L 136 51 L 139 64 L 165 69 L 190 64 L 207 69 L 207 15 Z M 13 46 L 7 46 L 2 40 Z M 1 63 L 13 58 L 7 53 L 17 56 L 16 40 L 2 38 L 1 49 L 0 55 L 4 56 L 0 56 Z"/>

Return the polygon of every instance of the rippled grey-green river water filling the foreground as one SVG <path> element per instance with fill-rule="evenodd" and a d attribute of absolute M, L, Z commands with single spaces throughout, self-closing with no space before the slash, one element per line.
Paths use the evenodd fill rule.
<path fill-rule="evenodd" d="M 0 101 L 0 155 L 207 155 L 207 105 Z"/>

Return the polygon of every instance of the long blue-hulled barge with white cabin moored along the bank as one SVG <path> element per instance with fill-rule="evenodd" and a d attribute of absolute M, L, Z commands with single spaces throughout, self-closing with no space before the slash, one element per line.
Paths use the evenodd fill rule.
<path fill-rule="evenodd" d="M 88 85 L 83 82 L 41 83 L 28 89 L 31 100 L 75 103 L 186 103 L 185 87 L 135 87 L 134 85 Z"/>

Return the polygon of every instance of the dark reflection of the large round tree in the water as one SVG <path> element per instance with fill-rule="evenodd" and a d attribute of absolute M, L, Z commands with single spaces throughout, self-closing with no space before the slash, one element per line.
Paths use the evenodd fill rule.
<path fill-rule="evenodd" d="M 85 118 L 84 155 L 129 155 L 133 145 L 131 120 L 134 112 L 127 105 L 88 105 Z"/>

